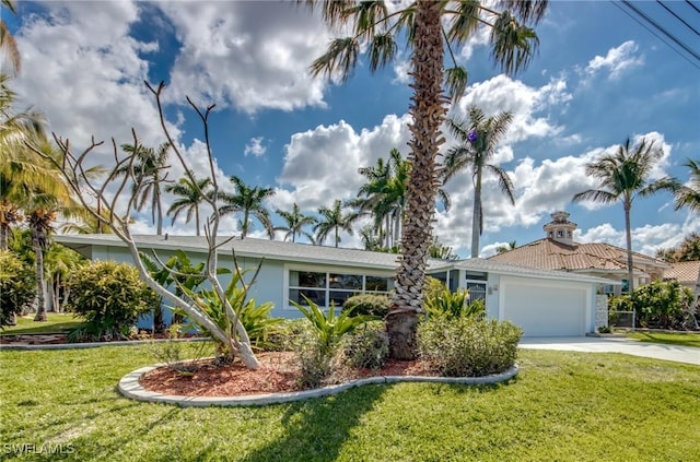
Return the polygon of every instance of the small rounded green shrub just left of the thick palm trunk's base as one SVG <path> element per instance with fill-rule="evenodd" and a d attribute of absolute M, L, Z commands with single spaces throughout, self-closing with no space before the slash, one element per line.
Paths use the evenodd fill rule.
<path fill-rule="evenodd" d="M 368 323 L 345 340 L 343 356 L 350 367 L 378 369 L 384 367 L 388 355 L 389 337 L 383 323 Z"/>

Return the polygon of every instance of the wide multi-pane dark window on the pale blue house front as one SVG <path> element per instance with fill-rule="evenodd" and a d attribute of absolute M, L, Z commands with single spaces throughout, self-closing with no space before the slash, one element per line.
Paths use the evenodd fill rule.
<path fill-rule="evenodd" d="M 304 297 L 327 308 L 342 306 L 353 295 L 373 293 L 388 294 L 394 287 L 390 277 L 317 271 L 289 271 L 289 299 L 300 305 L 306 305 Z"/>

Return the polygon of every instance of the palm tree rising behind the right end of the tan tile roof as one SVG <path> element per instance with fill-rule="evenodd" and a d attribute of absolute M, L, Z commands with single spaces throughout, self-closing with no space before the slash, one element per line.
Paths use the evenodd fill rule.
<path fill-rule="evenodd" d="M 631 146 L 628 138 L 615 154 L 606 154 L 598 161 L 586 164 L 586 176 L 600 180 L 600 189 L 588 189 L 573 197 L 573 202 L 588 200 L 604 204 L 622 202 L 630 294 L 634 288 L 630 222 L 632 202 L 638 197 L 644 198 L 661 190 L 675 191 L 677 189 L 677 181 L 668 177 L 650 182 L 650 174 L 663 155 L 663 150 L 655 146 L 653 141 L 649 143 L 646 139 L 642 139 L 637 145 Z"/>

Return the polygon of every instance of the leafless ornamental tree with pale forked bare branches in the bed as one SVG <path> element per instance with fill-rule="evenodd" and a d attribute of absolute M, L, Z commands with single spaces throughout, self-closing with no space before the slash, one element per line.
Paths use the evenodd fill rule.
<path fill-rule="evenodd" d="M 173 139 L 167 123 L 165 122 L 162 103 L 162 93 L 165 88 L 165 84 L 161 82 L 156 87 L 153 87 L 148 83 L 145 83 L 145 85 L 154 96 L 155 104 L 159 109 L 161 128 L 165 134 L 165 139 L 172 146 L 171 155 L 175 156 L 175 163 L 179 164 L 189 181 L 198 188 L 198 178 L 195 178 L 194 171 L 185 159 L 184 153 L 178 147 L 179 143 Z M 253 348 L 250 347 L 248 333 L 231 306 L 231 303 L 225 295 L 225 289 L 217 276 L 219 268 L 219 252 L 222 251 L 228 240 L 223 240 L 218 237 L 219 224 L 221 221 L 218 201 L 221 192 L 219 182 L 217 181 L 217 166 L 213 156 L 211 155 L 211 145 L 209 142 L 209 116 L 214 106 L 208 106 L 202 110 L 189 98 L 187 98 L 187 102 L 199 116 L 203 127 L 203 139 L 206 140 L 207 158 L 209 161 L 209 178 L 211 179 L 211 186 L 208 187 L 207 194 L 202 194 L 205 198 L 205 206 L 208 206 L 211 210 L 211 215 L 209 215 L 210 217 L 205 225 L 205 237 L 207 238 L 208 244 L 207 257 L 205 259 L 207 263 L 201 270 L 199 276 L 202 279 L 203 284 L 210 287 L 210 289 L 217 294 L 217 298 L 223 303 L 223 311 L 231 322 L 231 330 L 221 329 L 210 315 L 197 306 L 197 304 L 189 297 L 178 295 L 162 283 L 159 283 L 159 281 L 153 277 L 154 272 L 156 273 L 159 270 L 147 268 L 141 259 L 139 245 L 131 235 L 129 217 L 138 208 L 140 193 L 152 186 L 151 182 L 156 181 L 156 179 L 144 178 L 142 175 L 139 175 L 139 171 L 137 170 L 137 166 L 139 165 L 139 157 L 137 154 L 140 152 L 142 145 L 135 130 L 131 131 L 132 142 L 129 143 L 132 146 L 132 150 L 130 150 L 131 152 L 121 152 L 117 149 L 118 144 L 116 140 L 112 140 L 112 152 L 115 165 L 105 177 L 97 180 L 91 178 L 89 175 L 89 158 L 91 157 L 91 153 L 94 155 L 95 150 L 103 144 L 102 141 L 97 142 L 93 139 L 90 145 L 79 153 L 73 149 L 68 139 L 60 138 L 54 133 L 54 140 L 61 153 L 61 162 L 58 162 L 55 158 L 48 158 L 46 155 L 42 154 L 42 151 L 37 146 L 33 146 L 31 144 L 28 144 L 28 146 L 35 153 L 42 155 L 43 158 L 47 158 L 58 167 L 72 192 L 90 211 L 91 215 L 97 220 L 101 225 L 108 226 L 113 230 L 114 235 L 127 246 L 127 249 L 131 254 L 131 259 L 139 271 L 139 275 L 145 284 L 155 291 L 159 296 L 163 297 L 165 303 L 182 310 L 182 312 L 190 320 L 205 329 L 218 342 L 225 345 L 225 351 L 231 356 L 231 359 L 237 357 L 247 368 L 257 369 L 260 366 L 260 363 L 255 357 Z M 95 208 L 95 203 L 105 204 L 109 213 L 100 213 L 97 208 Z M 230 249 L 233 250 L 231 247 Z M 153 258 L 156 265 L 161 266 L 161 269 L 172 271 L 172 279 L 177 280 L 178 273 L 168 269 L 155 252 L 150 257 Z M 188 276 L 190 275 L 188 274 Z M 243 291 L 246 296 L 248 288 L 248 284 L 243 285 Z"/>

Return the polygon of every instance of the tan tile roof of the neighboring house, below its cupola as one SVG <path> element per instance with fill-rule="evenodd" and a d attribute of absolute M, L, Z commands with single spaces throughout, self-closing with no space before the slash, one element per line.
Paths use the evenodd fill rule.
<path fill-rule="evenodd" d="M 635 266 L 667 268 L 662 260 L 633 252 Z M 489 258 L 490 261 L 506 262 L 545 270 L 584 271 L 604 270 L 608 272 L 627 270 L 627 250 L 609 244 L 567 245 L 555 239 L 542 238 Z M 643 268 L 641 268 L 643 271 Z"/>

